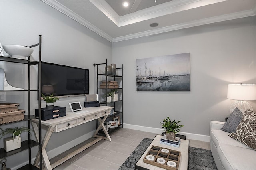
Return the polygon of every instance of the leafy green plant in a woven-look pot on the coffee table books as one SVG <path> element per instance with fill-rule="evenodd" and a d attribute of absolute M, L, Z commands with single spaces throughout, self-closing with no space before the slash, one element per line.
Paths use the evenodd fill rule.
<path fill-rule="evenodd" d="M 172 121 L 169 117 L 160 122 L 162 124 L 162 128 L 164 128 L 164 132 L 166 134 L 166 139 L 175 140 L 175 134 L 180 131 L 180 128 L 184 125 L 179 125 L 180 121 Z"/>

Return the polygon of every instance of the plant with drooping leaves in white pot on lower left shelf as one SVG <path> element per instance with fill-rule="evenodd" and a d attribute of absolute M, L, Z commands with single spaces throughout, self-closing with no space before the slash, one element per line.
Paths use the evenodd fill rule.
<path fill-rule="evenodd" d="M 5 130 L 2 130 L 2 128 L 0 128 L 0 139 L 7 134 L 12 134 L 12 137 L 4 138 L 4 150 L 6 150 L 6 152 L 9 152 L 11 150 L 20 148 L 21 147 L 20 134 L 22 132 L 30 133 L 30 130 L 31 129 L 27 127 L 6 128 Z"/>

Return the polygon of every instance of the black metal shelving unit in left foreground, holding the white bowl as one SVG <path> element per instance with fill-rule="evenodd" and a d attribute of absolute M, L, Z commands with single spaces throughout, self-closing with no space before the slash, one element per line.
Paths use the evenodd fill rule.
<path fill-rule="evenodd" d="M 41 44 L 42 44 L 42 36 L 39 35 L 39 43 L 34 44 L 29 46 L 30 48 L 32 47 L 39 47 L 39 58 L 38 61 L 32 61 L 30 60 L 30 56 L 28 57 L 28 60 L 26 59 L 17 59 L 17 58 L 12 58 L 12 57 L 4 57 L 4 56 L 0 56 L 0 61 L 3 62 L 9 62 L 9 63 L 20 63 L 20 64 L 24 64 L 24 65 L 28 65 L 28 89 L 24 89 L 24 90 L 0 90 L 0 92 L 8 92 L 8 91 L 26 91 L 28 93 L 28 111 L 26 111 L 26 113 L 28 113 L 27 115 L 24 116 L 24 120 L 22 121 L 27 121 L 28 123 L 28 128 L 31 128 L 31 120 L 32 119 L 38 119 L 39 120 L 39 124 L 38 124 L 38 129 L 39 129 L 39 141 L 42 141 L 41 138 L 41 110 L 39 109 L 39 116 L 35 116 L 35 115 L 31 115 L 30 114 L 30 92 L 31 91 L 35 91 L 38 94 L 41 94 Z M 37 65 L 38 66 L 38 89 L 30 89 L 30 71 L 31 68 L 30 66 L 32 65 Z M 38 95 L 38 107 L 41 108 L 41 95 Z M 15 122 L 11 122 L 11 123 L 5 123 L 5 124 L 1 124 L 0 126 L 4 126 L 6 124 L 12 124 L 12 123 L 17 123 L 17 122 L 21 122 L 21 121 L 15 121 Z M 19 152 L 22 152 L 24 150 L 28 150 L 28 159 L 29 159 L 29 163 L 26 164 L 25 166 L 19 168 L 18 170 L 42 170 L 42 143 L 40 142 L 36 142 L 34 140 L 31 139 L 31 134 L 28 133 L 28 140 L 22 141 L 21 142 L 21 148 L 18 148 L 16 150 L 12 150 L 10 152 L 6 152 L 4 150 L 4 148 L 0 148 L 0 159 L 3 158 L 7 158 L 8 156 L 14 155 L 14 154 L 18 154 Z M 2 145 L 1 145 L 2 146 Z M 39 167 L 36 167 L 32 164 L 32 160 L 31 160 L 31 148 L 35 147 L 35 146 L 39 146 L 39 156 L 40 156 L 40 165 Z"/>

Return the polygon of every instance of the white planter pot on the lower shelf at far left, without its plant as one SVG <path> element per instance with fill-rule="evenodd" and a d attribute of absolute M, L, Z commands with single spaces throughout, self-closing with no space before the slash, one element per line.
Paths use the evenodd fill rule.
<path fill-rule="evenodd" d="M 20 147 L 21 147 L 21 137 L 20 136 L 15 136 L 14 139 L 12 137 L 4 138 L 4 150 L 6 152 L 18 149 Z"/>

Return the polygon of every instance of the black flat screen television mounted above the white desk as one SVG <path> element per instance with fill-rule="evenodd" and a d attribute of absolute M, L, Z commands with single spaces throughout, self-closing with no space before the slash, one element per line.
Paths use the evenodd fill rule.
<path fill-rule="evenodd" d="M 89 70 L 42 62 L 41 91 L 54 96 L 89 94 Z"/>

